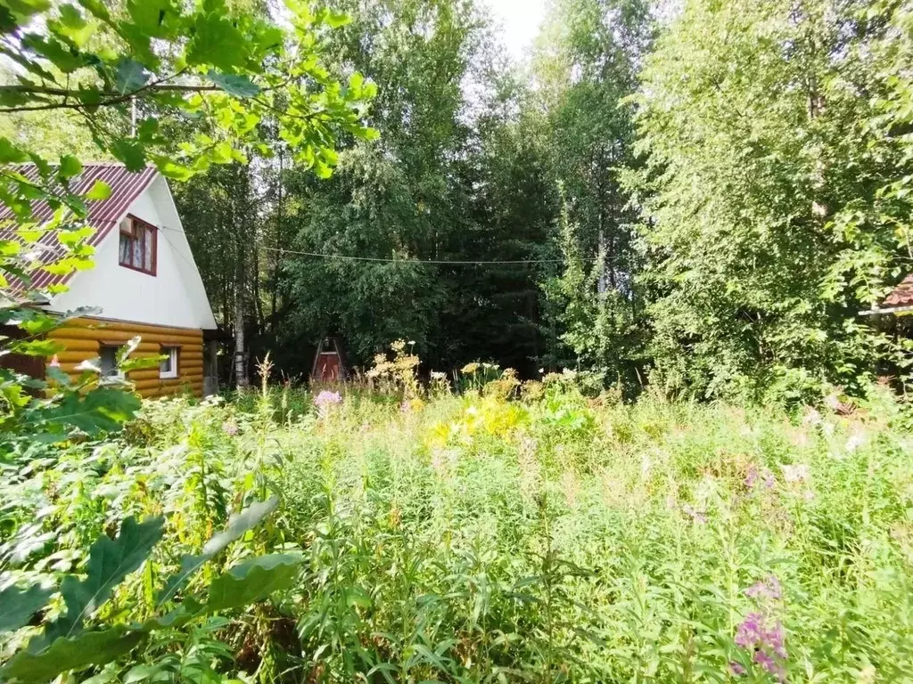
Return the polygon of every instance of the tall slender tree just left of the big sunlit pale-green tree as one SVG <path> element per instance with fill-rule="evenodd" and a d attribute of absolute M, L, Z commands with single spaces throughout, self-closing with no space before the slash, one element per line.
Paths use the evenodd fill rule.
<path fill-rule="evenodd" d="M 605 382 L 633 389 L 645 326 L 634 275 L 636 213 L 622 183 L 635 165 L 633 111 L 637 69 L 653 25 L 641 0 L 560 0 L 538 39 L 533 62 L 539 106 L 549 127 L 552 177 L 564 192 L 565 215 L 553 213 L 554 254 L 565 259 L 552 274 L 547 327 L 559 347 L 551 366 L 576 366 Z M 569 244 L 572 240 L 574 244 Z M 581 278 L 573 274 L 581 271 Z M 573 295 L 572 295 L 573 293 Z M 587 316 L 568 306 L 586 301 Z"/>

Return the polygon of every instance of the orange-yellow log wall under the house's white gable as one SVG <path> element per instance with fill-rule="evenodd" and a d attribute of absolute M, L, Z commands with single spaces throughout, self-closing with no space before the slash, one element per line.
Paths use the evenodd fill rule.
<path fill-rule="evenodd" d="M 138 335 L 142 342 L 131 358 L 159 356 L 163 347 L 178 347 L 176 378 L 161 378 L 158 367 L 128 374 L 144 399 L 186 391 L 196 397 L 203 396 L 203 330 L 86 317 L 67 321 L 66 326 L 51 331 L 47 337 L 65 347 L 57 355 L 60 370 L 78 378 L 76 367 L 83 361 L 99 358 L 101 347 L 122 346 Z"/>

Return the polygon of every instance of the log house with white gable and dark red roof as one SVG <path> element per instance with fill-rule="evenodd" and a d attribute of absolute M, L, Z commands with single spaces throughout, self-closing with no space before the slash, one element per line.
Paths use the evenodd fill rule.
<path fill-rule="evenodd" d="M 28 166 L 18 171 L 26 176 L 36 173 Z M 117 374 L 119 347 L 141 336 L 136 356 L 165 357 L 158 368 L 131 371 L 129 379 L 143 397 L 188 390 L 202 396 L 204 378 L 210 375 L 204 362 L 204 330 L 215 329 L 215 318 L 168 182 L 152 168 L 131 172 L 118 163 L 92 163 L 70 181 L 70 187 L 83 193 L 95 181 L 111 188 L 107 200 L 87 202 L 88 223 L 96 230 L 89 238 L 95 247 L 95 267 L 67 276 L 38 270 L 33 282 L 41 287 L 68 285 L 66 292 L 44 305 L 51 312 L 91 306 L 100 313 L 53 330 L 48 337 L 64 350 L 46 363 L 56 362 L 77 376 L 81 362 L 98 359 L 103 375 Z M 52 215 L 41 202 L 34 212 L 37 220 Z M 0 212 L 0 221 L 11 218 L 8 210 Z M 56 246 L 53 233 L 37 245 L 47 252 L 42 256 L 46 262 L 56 258 Z"/>

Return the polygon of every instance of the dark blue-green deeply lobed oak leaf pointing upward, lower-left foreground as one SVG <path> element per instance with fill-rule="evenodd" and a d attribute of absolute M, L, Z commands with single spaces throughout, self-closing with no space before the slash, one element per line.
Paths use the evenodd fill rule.
<path fill-rule="evenodd" d="M 47 627 L 42 642 L 74 636 L 83 620 L 109 599 L 114 587 L 142 565 L 152 552 L 152 546 L 162 538 L 163 525 L 161 516 L 142 523 L 137 523 L 131 516 L 121 524 L 121 534 L 116 539 L 102 534 L 89 548 L 85 579 L 80 580 L 77 575 L 64 577 L 60 593 L 67 604 L 67 612 Z"/>

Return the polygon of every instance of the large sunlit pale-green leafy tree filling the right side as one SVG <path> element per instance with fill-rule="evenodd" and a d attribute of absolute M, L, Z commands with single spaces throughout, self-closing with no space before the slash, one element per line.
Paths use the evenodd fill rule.
<path fill-rule="evenodd" d="M 857 391 L 906 364 L 861 322 L 909 270 L 899 5 L 688 2 L 641 78 L 656 366 L 700 396 Z M 899 30 L 898 30 L 899 29 Z M 738 65 L 738 68 L 734 68 Z M 897 118 L 895 118 L 897 117 Z"/>

